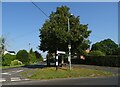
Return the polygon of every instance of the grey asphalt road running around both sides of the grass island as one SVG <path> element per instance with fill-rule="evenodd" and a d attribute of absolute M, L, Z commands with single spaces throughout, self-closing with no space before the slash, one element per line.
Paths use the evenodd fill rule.
<path fill-rule="evenodd" d="M 72 65 L 73 67 L 82 67 L 90 69 L 98 69 L 110 71 L 115 74 L 118 73 L 117 68 L 113 67 L 100 67 L 92 65 Z M 2 78 L 0 81 L 3 85 L 117 85 L 118 77 L 94 77 L 94 78 L 72 78 L 72 79 L 54 79 L 54 80 L 29 80 L 21 76 L 21 72 L 34 69 L 34 68 L 43 68 L 44 64 L 28 66 L 28 67 L 19 67 L 11 69 L 2 70 Z"/>

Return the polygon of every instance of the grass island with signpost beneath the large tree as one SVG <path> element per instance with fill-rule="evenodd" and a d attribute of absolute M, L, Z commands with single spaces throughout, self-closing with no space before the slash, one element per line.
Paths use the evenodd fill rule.
<path fill-rule="evenodd" d="M 67 68 L 61 68 L 56 71 L 55 68 L 34 69 L 22 72 L 23 77 L 29 79 L 55 79 L 55 78 L 74 78 L 74 77 L 100 77 L 100 76 L 114 76 L 111 72 L 85 69 L 85 68 L 72 68 L 70 71 Z"/>

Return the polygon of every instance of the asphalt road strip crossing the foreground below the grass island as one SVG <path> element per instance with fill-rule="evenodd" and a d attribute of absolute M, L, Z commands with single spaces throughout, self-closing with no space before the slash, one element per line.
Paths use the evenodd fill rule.
<path fill-rule="evenodd" d="M 33 80 L 6 83 L 4 85 L 118 85 L 118 77 Z"/>

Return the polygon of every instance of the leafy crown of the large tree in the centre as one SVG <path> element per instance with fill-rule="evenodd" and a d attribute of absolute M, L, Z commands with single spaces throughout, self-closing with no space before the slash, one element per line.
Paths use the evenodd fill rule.
<path fill-rule="evenodd" d="M 68 51 L 70 40 L 72 53 L 80 53 L 89 47 L 87 39 L 91 31 L 88 24 L 80 24 L 79 16 L 71 15 L 67 6 L 57 7 L 40 29 L 40 46 L 43 52 L 55 53 L 56 50 Z M 68 32 L 68 20 L 70 32 Z"/>

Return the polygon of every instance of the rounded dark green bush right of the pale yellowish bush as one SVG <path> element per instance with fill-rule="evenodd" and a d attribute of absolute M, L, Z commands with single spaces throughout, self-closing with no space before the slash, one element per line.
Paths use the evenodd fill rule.
<path fill-rule="evenodd" d="M 20 50 L 18 51 L 16 58 L 21 61 L 23 64 L 28 65 L 30 60 L 29 60 L 29 55 L 26 50 Z"/>

